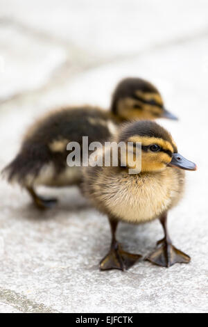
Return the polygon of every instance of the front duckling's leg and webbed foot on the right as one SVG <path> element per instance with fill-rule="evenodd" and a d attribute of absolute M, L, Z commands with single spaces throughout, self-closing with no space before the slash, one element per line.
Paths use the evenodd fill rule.
<path fill-rule="evenodd" d="M 189 255 L 186 255 L 186 253 L 183 253 L 172 245 L 167 229 L 167 213 L 161 216 L 159 220 L 162 223 L 165 237 L 157 242 L 157 245 L 162 244 L 162 246 L 151 253 L 146 260 L 167 268 L 176 263 L 188 264 L 191 260 Z"/>

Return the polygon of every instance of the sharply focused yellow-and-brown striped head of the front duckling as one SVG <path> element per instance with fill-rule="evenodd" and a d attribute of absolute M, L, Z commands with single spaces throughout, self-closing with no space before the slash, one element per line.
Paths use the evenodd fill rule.
<path fill-rule="evenodd" d="M 171 134 L 156 122 L 141 120 L 128 123 L 121 129 L 119 141 L 133 143 L 133 153 L 137 142 L 141 144 L 141 172 L 157 172 L 167 167 L 196 170 L 196 164 L 182 157 Z M 135 159 L 135 155 L 134 155 Z M 132 162 L 127 166 L 132 168 Z"/>

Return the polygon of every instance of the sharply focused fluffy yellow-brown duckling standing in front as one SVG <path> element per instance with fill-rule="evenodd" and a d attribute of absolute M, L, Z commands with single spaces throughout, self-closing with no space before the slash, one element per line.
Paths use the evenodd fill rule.
<path fill-rule="evenodd" d="M 119 221 L 140 224 L 157 218 L 162 223 L 164 239 L 158 242 L 160 247 L 146 260 L 165 267 L 177 262 L 188 263 L 189 255 L 175 248 L 171 242 L 167 215 L 182 198 L 184 170 L 196 170 L 196 164 L 182 157 L 171 134 L 153 121 L 128 122 L 114 136 L 114 141 L 124 142 L 125 145 L 131 142 L 134 156 L 138 143 L 141 144 L 138 157 L 141 167 L 136 169 L 136 173 L 129 173 L 135 163 L 124 149 L 118 152 L 118 166 L 112 163 L 110 166 L 89 165 L 83 170 L 83 193 L 94 207 L 107 214 L 110 222 L 112 243 L 100 269 L 129 269 L 141 257 L 123 250 L 116 240 Z M 112 158 L 110 145 L 105 145 L 98 156 L 104 159 L 106 153 L 110 153 Z"/>

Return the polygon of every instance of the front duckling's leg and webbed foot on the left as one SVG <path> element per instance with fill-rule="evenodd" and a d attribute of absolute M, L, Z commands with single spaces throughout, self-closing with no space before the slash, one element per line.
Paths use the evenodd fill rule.
<path fill-rule="evenodd" d="M 110 228 L 112 232 L 112 243 L 110 246 L 110 251 L 101 260 L 100 269 L 110 270 L 110 269 L 120 269 L 122 271 L 127 270 L 135 264 L 135 262 L 141 257 L 141 255 L 136 255 L 132 253 L 125 252 L 119 242 L 116 240 L 116 228 L 118 221 L 109 218 Z"/>

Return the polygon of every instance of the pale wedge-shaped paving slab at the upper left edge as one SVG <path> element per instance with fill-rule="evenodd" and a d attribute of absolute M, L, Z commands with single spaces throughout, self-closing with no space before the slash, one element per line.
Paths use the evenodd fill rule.
<path fill-rule="evenodd" d="M 0 24 L 0 101 L 44 86 L 66 60 L 62 47 L 27 35 L 12 24 Z"/>

